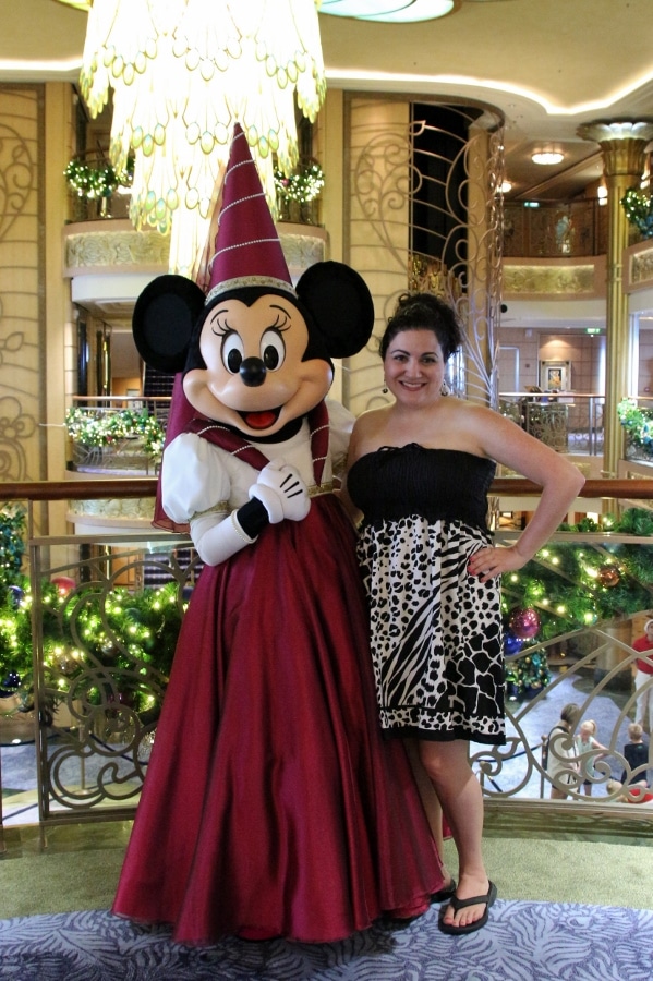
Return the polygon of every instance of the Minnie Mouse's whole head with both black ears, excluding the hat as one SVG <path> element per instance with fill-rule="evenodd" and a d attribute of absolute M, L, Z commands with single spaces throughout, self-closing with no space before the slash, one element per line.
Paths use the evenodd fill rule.
<path fill-rule="evenodd" d="M 208 304 L 184 276 L 158 276 L 133 316 L 146 364 L 183 372 L 184 395 L 196 412 L 258 439 L 319 404 L 334 377 L 330 359 L 360 351 L 373 325 L 365 282 L 332 261 L 306 269 L 295 293 L 246 284 Z"/>

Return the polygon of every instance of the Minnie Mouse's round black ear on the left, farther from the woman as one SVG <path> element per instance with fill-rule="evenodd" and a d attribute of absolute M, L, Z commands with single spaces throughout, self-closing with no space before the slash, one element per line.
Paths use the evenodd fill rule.
<path fill-rule="evenodd" d="M 145 287 L 134 306 L 132 332 L 146 364 L 168 374 L 183 371 L 204 300 L 185 276 L 157 276 Z"/>

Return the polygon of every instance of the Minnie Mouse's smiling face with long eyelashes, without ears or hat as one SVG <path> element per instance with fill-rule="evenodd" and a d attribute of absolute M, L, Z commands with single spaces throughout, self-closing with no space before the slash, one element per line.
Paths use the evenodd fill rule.
<path fill-rule="evenodd" d="M 252 438 L 273 436 L 330 388 L 330 363 L 303 360 L 307 348 L 306 320 L 289 298 L 265 293 L 246 302 L 227 294 L 202 324 L 193 359 L 201 366 L 189 366 L 185 396 L 208 419 Z"/>

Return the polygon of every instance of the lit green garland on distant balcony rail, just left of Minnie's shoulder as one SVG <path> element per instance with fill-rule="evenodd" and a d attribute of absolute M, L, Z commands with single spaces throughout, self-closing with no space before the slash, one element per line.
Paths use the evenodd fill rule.
<path fill-rule="evenodd" d="M 118 412 L 97 412 L 69 409 L 65 415 L 69 435 L 84 446 L 105 447 L 123 439 L 143 439 L 146 455 L 158 459 L 164 450 L 166 431 L 146 409 L 120 409 Z"/>

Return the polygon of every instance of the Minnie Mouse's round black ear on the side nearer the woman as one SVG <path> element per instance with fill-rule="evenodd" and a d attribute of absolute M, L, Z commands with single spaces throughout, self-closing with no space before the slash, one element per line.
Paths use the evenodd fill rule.
<path fill-rule="evenodd" d="M 310 266 L 297 284 L 330 358 L 349 358 L 372 336 L 374 303 L 362 276 L 344 263 Z"/>

